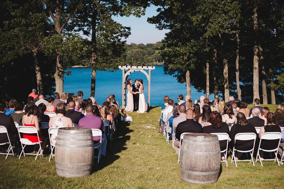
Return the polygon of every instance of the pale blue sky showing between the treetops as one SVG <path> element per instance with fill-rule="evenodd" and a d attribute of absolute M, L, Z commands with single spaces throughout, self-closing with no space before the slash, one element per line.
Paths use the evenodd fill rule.
<path fill-rule="evenodd" d="M 157 15 L 157 6 L 147 7 L 146 13 L 140 18 L 130 16 L 130 17 L 113 17 L 113 19 L 123 26 L 131 27 L 131 35 L 126 39 L 126 43 L 156 43 L 161 41 L 165 37 L 167 30 L 158 30 L 154 24 L 149 24 L 147 22 L 148 17 Z M 91 39 L 91 38 L 89 38 Z"/>

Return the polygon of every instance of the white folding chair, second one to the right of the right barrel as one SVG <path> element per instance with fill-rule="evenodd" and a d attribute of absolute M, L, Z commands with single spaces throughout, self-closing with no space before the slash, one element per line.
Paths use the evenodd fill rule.
<path fill-rule="evenodd" d="M 255 133 L 238 133 L 238 134 L 236 134 L 236 136 L 235 136 L 235 144 L 236 144 L 236 140 L 241 140 L 241 141 L 254 140 L 254 145 L 255 145 L 256 134 L 255 134 Z M 243 152 L 243 153 L 249 152 L 249 153 L 251 154 L 251 160 L 249 160 L 249 159 L 236 160 L 236 158 L 235 158 L 235 151 Z M 237 150 L 237 149 L 235 149 L 235 146 L 234 146 L 231 163 L 234 161 L 236 167 L 238 167 L 238 166 L 237 166 L 237 162 L 251 161 L 252 164 L 254 165 L 254 159 L 253 159 L 253 157 L 252 157 L 252 154 L 254 154 L 254 146 L 253 146 L 252 149 L 246 150 L 246 151 Z"/>

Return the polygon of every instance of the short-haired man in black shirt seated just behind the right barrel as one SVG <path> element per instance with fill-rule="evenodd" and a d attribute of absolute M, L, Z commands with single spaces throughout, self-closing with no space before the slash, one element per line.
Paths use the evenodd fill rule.
<path fill-rule="evenodd" d="M 202 126 L 199 123 L 193 121 L 193 110 L 188 109 L 186 110 L 185 114 L 186 120 L 180 122 L 175 130 L 176 141 L 174 142 L 174 146 L 177 154 L 180 148 L 180 135 L 182 133 L 202 133 Z"/>

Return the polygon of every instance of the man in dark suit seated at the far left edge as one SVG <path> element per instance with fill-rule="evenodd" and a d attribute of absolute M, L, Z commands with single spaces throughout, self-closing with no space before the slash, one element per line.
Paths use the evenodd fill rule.
<path fill-rule="evenodd" d="M 6 105 L 0 103 L 0 125 L 6 127 L 11 143 L 19 141 L 19 135 L 12 117 L 5 115 Z M 0 144 L 9 142 L 6 133 L 0 133 Z"/>

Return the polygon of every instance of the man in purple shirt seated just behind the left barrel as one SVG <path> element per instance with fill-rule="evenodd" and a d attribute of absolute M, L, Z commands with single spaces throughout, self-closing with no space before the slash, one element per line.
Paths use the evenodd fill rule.
<path fill-rule="evenodd" d="M 93 106 L 87 105 L 86 115 L 79 120 L 78 127 L 91 128 L 91 129 L 100 129 L 104 131 L 104 122 L 101 120 L 101 117 L 93 115 Z M 99 136 L 93 136 L 94 146 L 99 145 L 101 139 L 101 155 L 104 157 L 106 155 L 106 136 L 104 133 L 101 138 Z"/>

